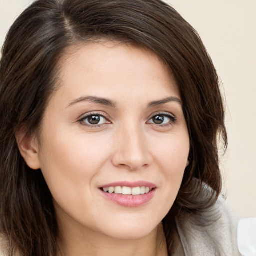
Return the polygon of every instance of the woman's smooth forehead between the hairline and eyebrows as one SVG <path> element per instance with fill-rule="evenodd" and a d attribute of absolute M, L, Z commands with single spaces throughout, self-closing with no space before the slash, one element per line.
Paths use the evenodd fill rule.
<path fill-rule="evenodd" d="M 119 90 L 151 91 L 160 97 L 171 90 L 179 96 L 177 85 L 167 66 L 152 51 L 121 42 L 90 42 L 68 48 L 59 61 L 60 90 L 69 96 L 102 93 L 111 96 Z M 159 93 L 159 92 L 162 93 Z"/>

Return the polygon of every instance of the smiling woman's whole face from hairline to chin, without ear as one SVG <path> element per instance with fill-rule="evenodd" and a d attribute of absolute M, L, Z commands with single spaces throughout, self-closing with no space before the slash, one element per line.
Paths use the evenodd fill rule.
<path fill-rule="evenodd" d="M 62 58 L 38 161 L 63 230 L 138 238 L 171 208 L 189 137 L 175 81 L 148 50 L 88 43 Z"/>

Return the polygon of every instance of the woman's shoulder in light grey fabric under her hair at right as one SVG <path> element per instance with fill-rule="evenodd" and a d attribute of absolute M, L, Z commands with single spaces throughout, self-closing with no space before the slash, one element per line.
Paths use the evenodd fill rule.
<path fill-rule="evenodd" d="M 176 223 L 186 255 L 241 255 L 237 245 L 238 219 L 223 196 L 204 212 L 176 219 Z"/>

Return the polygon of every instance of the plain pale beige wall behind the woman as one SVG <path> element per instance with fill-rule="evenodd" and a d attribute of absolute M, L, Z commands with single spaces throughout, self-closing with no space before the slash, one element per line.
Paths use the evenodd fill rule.
<path fill-rule="evenodd" d="M 166 0 L 199 32 L 222 80 L 228 151 L 223 192 L 240 216 L 256 216 L 256 0 Z M 0 47 L 31 0 L 0 0 Z"/>

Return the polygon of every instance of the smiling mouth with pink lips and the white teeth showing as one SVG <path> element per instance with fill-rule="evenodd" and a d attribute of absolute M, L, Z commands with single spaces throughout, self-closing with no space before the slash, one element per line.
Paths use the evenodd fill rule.
<path fill-rule="evenodd" d="M 116 182 L 100 187 L 103 196 L 125 207 L 138 207 L 150 201 L 156 186 L 149 182 Z"/>

